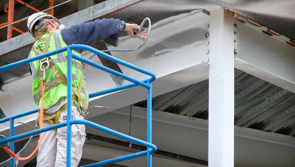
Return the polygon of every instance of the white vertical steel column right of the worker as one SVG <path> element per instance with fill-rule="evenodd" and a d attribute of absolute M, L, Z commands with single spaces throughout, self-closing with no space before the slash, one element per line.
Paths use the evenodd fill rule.
<path fill-rule="evenodd" d="M 209 167 L 234 166 L 234 21 L 222 7 L 210 13 Z"/>

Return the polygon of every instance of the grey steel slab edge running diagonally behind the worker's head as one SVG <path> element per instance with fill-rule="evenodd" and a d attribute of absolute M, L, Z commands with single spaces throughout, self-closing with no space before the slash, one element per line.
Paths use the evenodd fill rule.
<path fill-rule="evenodd" d="M 135 4 L 139 1 L 142 1 L 142 0 L 121 0 L 121 1 L 107 0 L 99 4 L 96 4 L 94 6 L 91 6 L 87 9 L 84 9 L 82 11 L 78 11 L 74 14 L 66 16 L 60 19 L 60 21 L 65 26 L 69 26 L 69 25 L 77 24 L 77 23 L 85 23 L 88 21 L 92 21 L 94 19 L 98 19 L 99 17 L 102 17 L 111 12 L 117 11 L 119 9 L 125 8 L 132 4 Z M 35 39 L 33 39 L 28 32 L 21 34 L 19 36 L 16 36 L 10 40 L 3 41 L 0 43 L 0 57 L 4 56 L 5 54 L 9 52 L 17 51 L 24 47 L 30 46 L 34 42 L 35 42 Z"/>

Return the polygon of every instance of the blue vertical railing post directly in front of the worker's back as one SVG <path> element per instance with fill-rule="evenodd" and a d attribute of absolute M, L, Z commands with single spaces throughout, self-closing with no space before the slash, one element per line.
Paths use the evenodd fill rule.
<path fill-rule="evenodd" d="M 72 49 L 68 48 L 68 72 L 67 72 L 67 167 L 71 167 L 71 135 L 72 127 Z"/>

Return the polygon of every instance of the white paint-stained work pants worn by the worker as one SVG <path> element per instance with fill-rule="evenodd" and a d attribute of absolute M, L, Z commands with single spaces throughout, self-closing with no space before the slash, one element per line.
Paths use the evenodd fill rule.
<path fill-rule="evenodd" d="M 60 113 L 59 122 L 66 122 L 67 111 Z M 64 117 L 65 116 L 65 117 Z M 74 119 L 84 119 L 76 106 L 72 106 L 72 116 Z M 49 121 L 43 122 L 43 127 L 50 126 Z M 71 147 L 71 166 L 78 166 L 82 148 L 85 142 L 85 125 L 72 125 L 72 147 Z M 58 128 L 42 133 L 41 142 L 37 155 L 36 167 L 61 167 L 66 166 L 67 153 L 67 127 Z"/>

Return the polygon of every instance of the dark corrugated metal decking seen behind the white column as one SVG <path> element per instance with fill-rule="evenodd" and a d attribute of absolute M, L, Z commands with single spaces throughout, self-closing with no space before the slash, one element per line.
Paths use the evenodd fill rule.
<path fill-rule="evenodd" d="M 208 119 L 208 84 L 205 80 L 156 96 L 153 110 Z M 295 136 L 295 94 L 235 69 L 235 125 Z"/>

